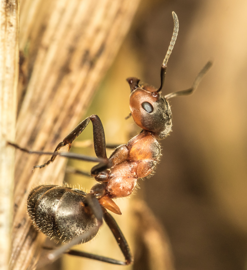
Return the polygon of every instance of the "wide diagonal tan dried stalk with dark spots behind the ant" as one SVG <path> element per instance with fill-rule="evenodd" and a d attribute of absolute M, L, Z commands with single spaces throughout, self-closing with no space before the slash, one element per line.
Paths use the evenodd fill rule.
<path fill-rule="evenodd" d="M 22 0 L 16 142 L 53 150 L 81 119 L 121 45 L 139 0 Z M 26 214 L 31 188 L 61 184 L 65 160 L 16 151 L 10 269 L 34 269 L 40 252 Z"/>

